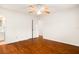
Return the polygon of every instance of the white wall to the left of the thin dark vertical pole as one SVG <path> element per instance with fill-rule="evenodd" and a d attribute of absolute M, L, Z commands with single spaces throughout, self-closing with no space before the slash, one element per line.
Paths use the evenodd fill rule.
<path fill-rule="evenodd" d="M 31 38 L 31 17 L 27 14 L 0 8 L 0 15 L 6 18 L 6 43 Z"/>

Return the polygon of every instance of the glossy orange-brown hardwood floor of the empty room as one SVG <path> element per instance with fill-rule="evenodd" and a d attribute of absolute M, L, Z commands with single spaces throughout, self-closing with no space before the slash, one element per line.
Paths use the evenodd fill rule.
<path fill-rule="evenodd" d="M 79 47 L 36 38 L 0 45 L 0 54 L 79 54 Z"/>

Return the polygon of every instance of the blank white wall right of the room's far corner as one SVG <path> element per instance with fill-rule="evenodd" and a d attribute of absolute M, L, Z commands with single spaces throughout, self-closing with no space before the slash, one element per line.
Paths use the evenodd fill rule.
<path fill-rule="evenodd" d="M 43 18 L 44 38 L 79 46 L 79 9 L 56 11 Z"/>

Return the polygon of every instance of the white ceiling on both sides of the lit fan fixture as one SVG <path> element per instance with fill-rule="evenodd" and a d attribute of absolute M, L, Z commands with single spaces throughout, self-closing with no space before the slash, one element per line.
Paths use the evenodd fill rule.
<path fill-rule="evenodd" d="M 13 11 L 27 12 L 27 8 L 29 5 L 27 4 L 0 4 L 0 8 L 9 9 Z M 63 10 L 74 7 L 79 7 L 77 4 L 49 4 L 51 9 L 55 10 Z"/>

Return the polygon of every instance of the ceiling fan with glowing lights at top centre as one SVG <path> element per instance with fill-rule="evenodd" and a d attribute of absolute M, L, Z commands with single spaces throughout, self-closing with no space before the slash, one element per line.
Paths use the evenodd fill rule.
<path fill-rule="evenodd" d="M 37 14 L 37 15 L 41 15 L 41 14 L 50 14 L 49 8 L 47 5 L 30 5 L 29 6 L 29 13 L 32 14 Z"/>

